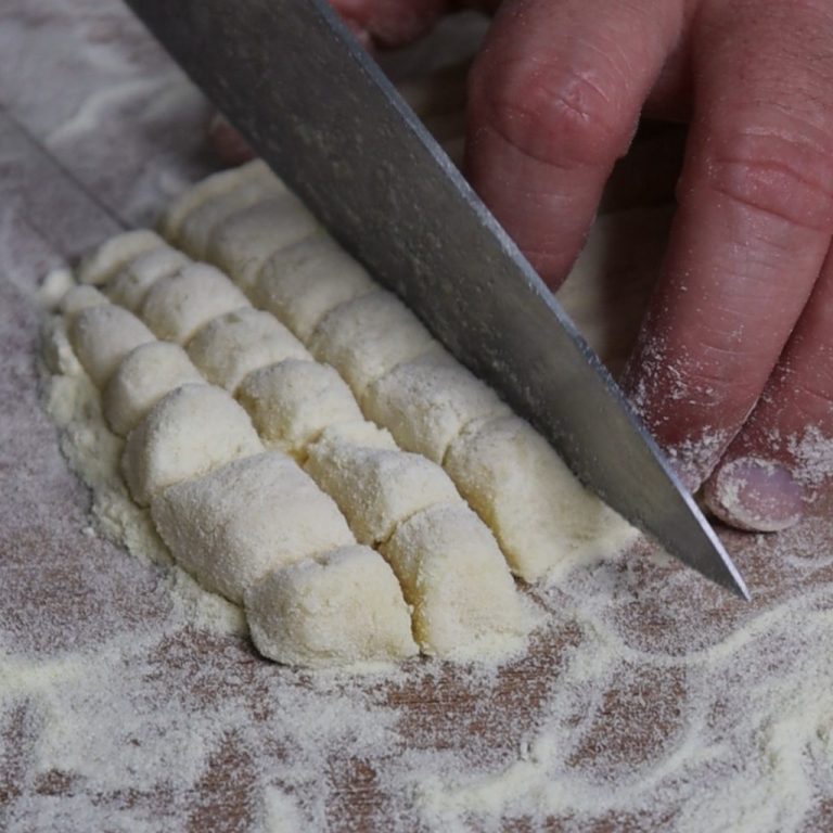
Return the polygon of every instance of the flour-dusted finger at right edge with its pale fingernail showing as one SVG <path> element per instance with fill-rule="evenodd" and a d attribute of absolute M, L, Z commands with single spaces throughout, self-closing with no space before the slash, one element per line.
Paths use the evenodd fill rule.
<path fill-rule="evenodd" d="M 811 492 L 833 477 L 833 254 L 758 405 L 706 482 L 722 521 L 783 529 Z"/>

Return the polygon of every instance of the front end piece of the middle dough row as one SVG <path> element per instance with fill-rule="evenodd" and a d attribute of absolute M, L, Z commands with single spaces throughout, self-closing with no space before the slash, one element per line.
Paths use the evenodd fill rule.
<path fill-rule="evenodd" d="M 520 646 L 529 616 L 495 538 L 462 501 L 418 512 L 381 551 L 413 605 L 423 653 L 473 658 Z"/>

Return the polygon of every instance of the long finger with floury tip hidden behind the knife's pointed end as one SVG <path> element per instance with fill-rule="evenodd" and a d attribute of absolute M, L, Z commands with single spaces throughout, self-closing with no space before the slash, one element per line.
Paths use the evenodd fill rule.
<path fill-rule="evenodd" d="M 833 8 L 701 11 L 680 206 L 626 374 L 692 487 L 764 389 L 833 232 Z"/>

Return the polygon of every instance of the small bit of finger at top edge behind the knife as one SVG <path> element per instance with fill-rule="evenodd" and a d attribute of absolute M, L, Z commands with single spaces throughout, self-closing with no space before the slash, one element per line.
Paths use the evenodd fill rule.
<path fill-rule="evenodd" d="M 446 10 L 447 0 L 330 0 L 363 40 L 398 47 L 424 35 Z"/>

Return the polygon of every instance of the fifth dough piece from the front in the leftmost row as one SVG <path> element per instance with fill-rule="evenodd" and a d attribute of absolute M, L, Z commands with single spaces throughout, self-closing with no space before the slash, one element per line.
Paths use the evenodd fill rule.
<path fill-rule="evenodd" d="M 132 312 L 112 304 L 88 307 L 69 325 L 75 355 L 97 387 L 106 384 L 130 350 L 155 341 Z"/>

